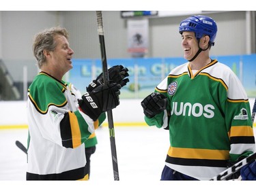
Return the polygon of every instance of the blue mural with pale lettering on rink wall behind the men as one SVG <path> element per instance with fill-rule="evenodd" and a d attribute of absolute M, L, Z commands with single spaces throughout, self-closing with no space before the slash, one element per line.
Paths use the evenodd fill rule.
<path fill-rule="evenodd" d="M 212 56 L 218 62 L 230 67 L 242 82 L 248 97 L 256 97 L 256 54 Z M 120 98 L 141 99 L 169 74 L 169 72 L 187 61 L 183 57 L 170 58 L 113 58 L 108 59 L 108 67 L 123 65 L 129 69 L 128 84 L 122 88 Z M 73 69 L 65 75 L 82 94 L 85 87 L 102 72 L 100 59 L 72 59 Z"/>

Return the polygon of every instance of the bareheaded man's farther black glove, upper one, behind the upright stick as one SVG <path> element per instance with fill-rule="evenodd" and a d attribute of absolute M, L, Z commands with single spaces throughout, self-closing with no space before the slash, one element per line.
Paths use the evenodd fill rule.
<path fill-rule="evenodd" d="M 122 87 L 126 86 L 129 82 L 128 76 L 128 69 L 123 67 L 122 65 L 116 65 L 111 67 L 109 70 L 109 84 L 117 83 L 120 84 Z M 127 78 L 125 78 L 127 77 Z M 86 88 L 87 92 L 91 92 L 97 86 L 100 86 L 104 83 L 103 75 L 100 75 L 96 78 L 96 80 L 92 80 L 89 86 Z"/>

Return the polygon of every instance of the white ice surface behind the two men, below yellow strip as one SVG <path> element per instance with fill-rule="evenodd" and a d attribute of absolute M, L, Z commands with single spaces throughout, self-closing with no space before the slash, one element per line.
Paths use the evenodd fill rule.
<path fill-rule="evenodd" d="M 0 130 L 0 179 L 25 180 L 27 157 L 16 145 L 27 146 L 27 129 Z M 91 181 L 113 180 L 109 128 L 96 130 L 98 145 L 91 156 Z M 115 127 L 119 179 L 160 179 L 169 148 L 169 133 L 154 127 Z"/>

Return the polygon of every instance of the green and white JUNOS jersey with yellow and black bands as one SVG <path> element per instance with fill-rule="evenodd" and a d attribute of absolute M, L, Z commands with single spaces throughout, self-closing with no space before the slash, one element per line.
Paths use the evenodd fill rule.
<path fill-rule="evenodd" d="M 228 162 L 255 151 L 248 97 L 229 67 L 212 60 L 199 71 L 188 63 L 173 69 L 156 86 L 168 99 L 166 111 L 147 118 L 150 126 L 169 126 L 166 164 L 197 179 L 211 179 Z"/>

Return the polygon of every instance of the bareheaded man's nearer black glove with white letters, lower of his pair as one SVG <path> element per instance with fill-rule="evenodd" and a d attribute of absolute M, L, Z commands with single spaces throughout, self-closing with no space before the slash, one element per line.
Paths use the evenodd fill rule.
<path fill-rule="evenodd" d="M 83 113 L 96 121 L 104 111 L 114 109 L 119 105 L 120 84 L 100 85 L 91 92 L 85 92 L 79 100 Z"/>

